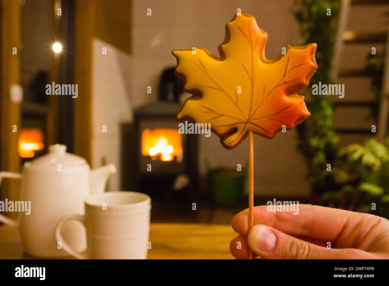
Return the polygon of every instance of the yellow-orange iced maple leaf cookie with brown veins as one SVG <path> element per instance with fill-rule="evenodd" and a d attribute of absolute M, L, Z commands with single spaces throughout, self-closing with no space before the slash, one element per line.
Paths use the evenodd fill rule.
<path fill-rule="evenodd" d="M 176 75 L 192 93 L 177 121 L 210 123 L 226 149 L 240 144 L 249 130 L 273 139 L 283 125 L 291 130 L 310 116 L 297 95 L 317 69 L 316 44 L 287 46 L 273 60 L 265 57 L 267 33 L 243 14 L 226 25 L 220 58 L 204 48 L 174 50 Z"/>

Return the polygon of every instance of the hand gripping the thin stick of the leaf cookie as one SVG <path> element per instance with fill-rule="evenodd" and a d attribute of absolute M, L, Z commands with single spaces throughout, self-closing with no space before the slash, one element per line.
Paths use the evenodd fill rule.
<path fill-rule="evenodd" d="M 300 204 L 296 215 L 269 212 L 267 207 L 254 207 L 250 232 L 248 209 L 232 219 L 233 230 L 240 234 L 230 243 L 235 258 L 247 259 L 250 248 L 265 259 L 389 259 L 385 218 L 317 205 Z"/>

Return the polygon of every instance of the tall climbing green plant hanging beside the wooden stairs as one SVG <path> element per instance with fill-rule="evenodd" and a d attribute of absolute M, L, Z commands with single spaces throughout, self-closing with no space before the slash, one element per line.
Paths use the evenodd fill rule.
<path fill-rule="evenodd" d="M 293 13 L 300 25 L 300 34 L 305 43 L 317 43 L 316 61 L 318 68 L 311 78 L 311 84 L 320 81 L 331 84 L 329 76 L 333 47 L 336 36 L 336 16 L 339 0 L 295 0 Z M 330 9 L 331 15 L 328 14 Z M 311 86 L 312 86 L 311 85 Z M 305 96 L 312 94 L 312 89 L 305 89 Z M 330 95 L 317 95 L 307 101 L 311 112 L 309 120 L 297 126 L 300 150 L 308 161 L 309 182 L 314 200 L 326 190 L 331 189 L 322 170 L 332 163 L 338 150 L 339 139 L 332 128 L 333 109 Z M 316 196 L 315 196 L 316 195 Z"/>

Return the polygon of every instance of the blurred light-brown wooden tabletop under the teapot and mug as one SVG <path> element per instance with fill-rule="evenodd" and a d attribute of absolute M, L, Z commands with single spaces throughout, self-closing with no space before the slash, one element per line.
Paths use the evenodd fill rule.
<path fill-rule="evenodd" d="M 148 259 L 233 259 L 231 225 L 154 223 Z M 24 253 L 18 230 L 0 226 L 0 259 L 33 259 Z"/>

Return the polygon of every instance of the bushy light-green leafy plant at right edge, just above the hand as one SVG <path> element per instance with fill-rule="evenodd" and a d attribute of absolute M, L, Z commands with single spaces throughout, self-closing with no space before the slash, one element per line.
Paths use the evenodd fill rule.
<path fill-rule="evenodd" d="M 334 186 L 322 196 L 324 204 L 389 218 L 389 139 L 342 148 L 323 176 Z"/>

